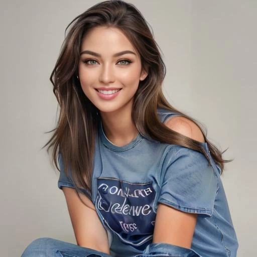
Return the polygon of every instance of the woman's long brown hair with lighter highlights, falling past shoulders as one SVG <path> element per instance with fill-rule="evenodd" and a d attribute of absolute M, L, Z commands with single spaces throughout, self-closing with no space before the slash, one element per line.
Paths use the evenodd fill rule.
<path fill-rule="evenodd" d="M 77 194 L 79 188 L 89 192 L 91 190 L 95 137 L 100 121 L 97 108 L 84 94 L 77 79 L 81 42 L 87 32 L 96 26 L 115 27 L 121 30 L 140 53 L 142 68 L 148 71 L 147 78 L 139 83 L 132 108 L 132 120 L 138 131 L 162 143 L 181 145 L 199 151 L 209 161 L 208 155 L 198 141 L 170 130 L 159 120 L 157 108 L 176 112 L 200 127 L 210 154 L 221 172 L 223 171 L 223 163 L 231 160 L 222 159 L 223 152 L 221 153 L 206 139 L 207 133 L 203 125 L 171 106 L 166 100 L 162 92 L 166 67 L 159 46 L 144 17 L 134 5 L 119 0 L 104 1 L 77 16 L 66 30 L 71 24 L 73 25 L 65 37 L 50 77 L 54 86 L 53 92 L 60 105 L 60 114 L 56 128 L 50 131 L 54 131 L 54 134 L 44 147 L 49 145 L 48 153 L 49 149 L 53 148 L 52 158 L 59 171 L 57 157 L 61 153 L 66 175 L 68 167 L 72 171 Z"/>

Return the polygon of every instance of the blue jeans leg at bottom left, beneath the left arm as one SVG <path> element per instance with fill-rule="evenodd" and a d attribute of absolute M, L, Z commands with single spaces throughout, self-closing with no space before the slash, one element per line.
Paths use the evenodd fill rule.
<path fill-rule="evenodd" d="M 21 257 L 111 257 L 94 249 L 49 237 L 32 241 Z"/>

